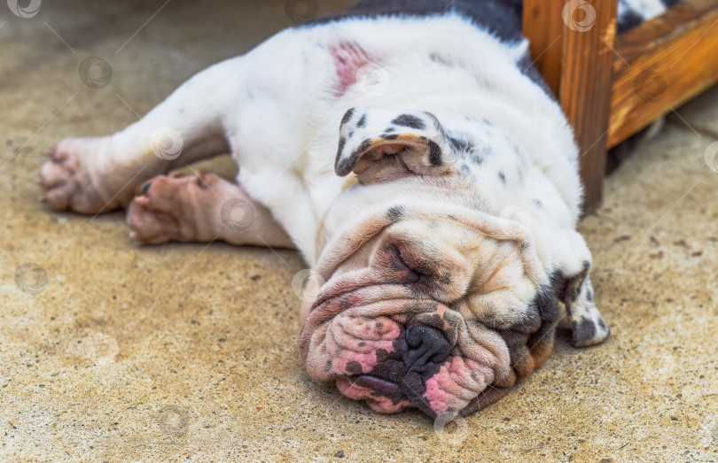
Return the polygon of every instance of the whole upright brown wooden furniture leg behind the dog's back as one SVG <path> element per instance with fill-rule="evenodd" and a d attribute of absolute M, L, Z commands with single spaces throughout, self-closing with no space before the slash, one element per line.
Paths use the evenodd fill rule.
<path fill-rule="evenodd" d="M 605 175 L 618 0 L 525 0 L 535 65 L 574 127 L 584 212 L 600 204 Z"/>

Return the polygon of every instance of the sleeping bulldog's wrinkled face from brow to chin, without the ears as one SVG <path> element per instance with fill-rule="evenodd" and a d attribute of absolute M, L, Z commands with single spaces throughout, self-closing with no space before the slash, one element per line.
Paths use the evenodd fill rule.
<path fill-rule="evenodd" d="M 309 374 L 382 413 L 475 412 L 546 358 L 558 304 L 527 274 L 521 243 L 449 217 L 386 216 L 308 316 Z"/>

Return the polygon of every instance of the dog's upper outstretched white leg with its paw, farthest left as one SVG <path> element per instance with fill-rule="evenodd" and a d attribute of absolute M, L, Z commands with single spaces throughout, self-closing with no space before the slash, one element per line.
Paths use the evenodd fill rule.
<path fill-rule="evenodd" d="M 114 135 L 60 140 L 41 169 L 43 198 L 54 209 L 110 211 L 126 207 L 137 186 L 157 174 L 229 152 L 222 104 L 232 95 L 218 96 L 217 81 L 237 59 L 192 77 Z"/>

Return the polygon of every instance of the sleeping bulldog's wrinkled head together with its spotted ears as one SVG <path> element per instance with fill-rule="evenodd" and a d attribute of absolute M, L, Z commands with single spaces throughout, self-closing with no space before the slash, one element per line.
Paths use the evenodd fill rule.
<path fill-rule="evenodd" d="M 459 167 L 495 167 L 472 158 L 480 139 L 461 136 L 425 112 L 351 110 L 342 121 L 336 170 L 358 183 L 325 218 L 325 283 L 305 306 L 300 350 L 313 378 L 381 413 L 416 406 L 450 419 L 495 402 L 547 359 L 561 294 L 583 290 L 558 288 L 524 223 L 482 211 Z M 573 260 L 586 250 L 563 247 Z M 576 307 L 574 325 L 603 321 L 592 303 Z M 602 341 L 599 328 L 574 341 Z"/>

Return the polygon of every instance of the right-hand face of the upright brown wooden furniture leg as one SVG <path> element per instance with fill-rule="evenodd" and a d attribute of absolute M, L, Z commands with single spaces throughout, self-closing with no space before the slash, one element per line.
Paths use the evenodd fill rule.
<path fill-rule="evenodd" d="M 593 11 L 581 17 L 574 12 L 572 22 L 566 8 L 573 5 Z M 559 101 L 581 152 L 584 212 L 597 208 L 603 195 L 617 12 L 618 0 L 572 0 L 563 11 L 566 27 Z"/>

